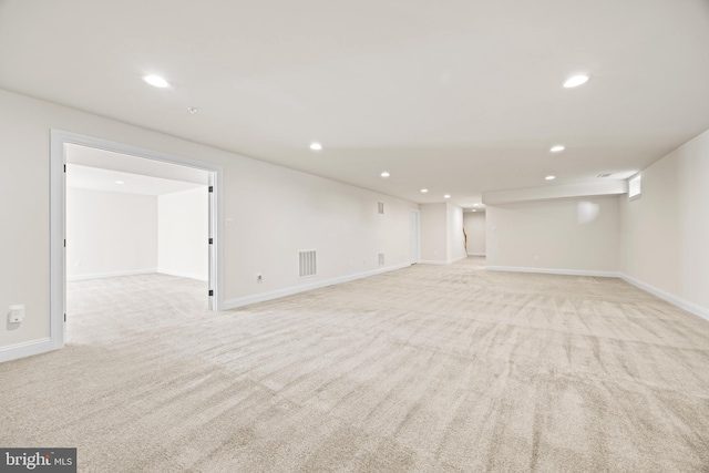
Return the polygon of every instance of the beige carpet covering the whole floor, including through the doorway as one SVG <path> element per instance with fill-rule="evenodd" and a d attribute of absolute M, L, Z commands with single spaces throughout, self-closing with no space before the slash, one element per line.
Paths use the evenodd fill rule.
<path fill-rule="evenodd" d="M 707 472 L 709 322 L 618 279 L 415 266 L 248 308 L 70 286 L 0 364 L 0 445 L 93 472 Z"/>

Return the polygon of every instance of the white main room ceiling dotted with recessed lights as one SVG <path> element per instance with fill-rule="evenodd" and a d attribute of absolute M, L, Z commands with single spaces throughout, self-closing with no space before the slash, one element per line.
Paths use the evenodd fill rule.
<path fill-rule="evenodd" d="M 709 128 L 708 0 L 0 0 L 0 64 L 2 89 L 465 207 Z"/>

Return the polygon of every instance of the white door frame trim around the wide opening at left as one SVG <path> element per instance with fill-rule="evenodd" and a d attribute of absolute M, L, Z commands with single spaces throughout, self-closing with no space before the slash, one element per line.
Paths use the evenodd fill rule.
<path fill-rule="evenodd" d="M 181 166 L 194 167 L 209 173 L 209 309 L 222 310 L 223 291 L 223 248 L 222 248 L 222 166 L 185 157 L 158 153 L 127 144 L 115 143 L 92 136 L 80 135 L 60 130 L 51 131 L 50 147 L 50 338 L 52 349 L 64 347 L 66 308 L 66 184 L 64 144 L 78 144 L 155 160 Z"/>

